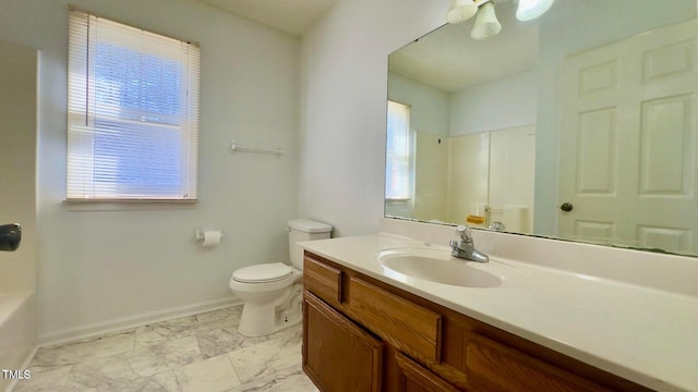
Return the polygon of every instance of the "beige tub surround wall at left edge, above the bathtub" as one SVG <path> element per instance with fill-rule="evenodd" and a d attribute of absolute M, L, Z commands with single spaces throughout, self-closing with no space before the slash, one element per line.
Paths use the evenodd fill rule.
<path fill-rule="evenodd" d="M 37 60 L 35 49 L 0 41 L 0 224 L 22 225 L 20 248 L 0 252 L 0 293 L 36 290 Z"/>

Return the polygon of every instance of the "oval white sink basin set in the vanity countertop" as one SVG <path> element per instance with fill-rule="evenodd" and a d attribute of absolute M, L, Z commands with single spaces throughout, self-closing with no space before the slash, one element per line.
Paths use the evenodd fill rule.
<path fill-rule="evenodd" d="M 377 252 L 374 257 L 386 275 L 406 283 L 416 278 L 464 287 L 496 287 L 502 284 L 501 277 L 482 270 L 486 264 L 452 257 L 449 250 L 397 248 Z"/>

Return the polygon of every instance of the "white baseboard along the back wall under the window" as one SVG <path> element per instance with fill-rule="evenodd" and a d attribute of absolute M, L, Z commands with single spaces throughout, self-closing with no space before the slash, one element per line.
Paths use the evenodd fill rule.
<path fill-rule="evenodd" d="M 178 306 L 164 310 L 149 311 L 145 314 L 122 317 L 109 321 L 95 322 L 70 328 L 58 332 L 51 332 L 39 335 L 37 339 L 38 347 L 52 346 L 58 344 L 72 343 L 89 338 L 100 336 L 104 334 L 124 332 L 148 323 L 166 321 L 174 318 L 197 315 L 201 313 L 227 308 L 230 306 L 242 305 L 240 298 L 225 297 L 214 301 Z"/>

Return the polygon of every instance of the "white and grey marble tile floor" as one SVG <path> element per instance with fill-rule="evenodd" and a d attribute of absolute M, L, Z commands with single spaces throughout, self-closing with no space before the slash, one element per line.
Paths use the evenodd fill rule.
<path fill-rule="evenodd" d="M 13 392 L 312 392 L 301 324 L 262 338 L 238 330 L 242 306 L 40 348 Z"/>

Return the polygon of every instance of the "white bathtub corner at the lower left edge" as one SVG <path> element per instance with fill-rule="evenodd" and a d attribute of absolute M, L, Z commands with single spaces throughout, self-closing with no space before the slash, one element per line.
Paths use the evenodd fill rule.
<path fill-rule="evenodd" d="M 36 344 L 34 292 L 0 293 L 0 369 L 24 370 Z M 12 380 L 0 372 L 0 391 Z"/>

